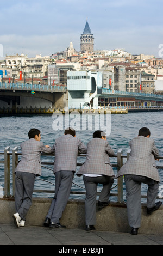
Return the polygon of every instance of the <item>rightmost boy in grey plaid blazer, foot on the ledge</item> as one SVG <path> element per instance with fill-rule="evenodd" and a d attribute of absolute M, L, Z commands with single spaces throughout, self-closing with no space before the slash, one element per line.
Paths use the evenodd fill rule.
<path fill-rule="evenodd" d="M 150 135 L 151 132 L 146 127 L 139 130 L 138 137 L 129 142 L 129 159 L 116 175 L 116 178 L 124 175 L 128 222 L 133 235 L 137 235 L 141 224 L 141 183 L 148 185 L 147 214 L 151 214 L 162 204 L 160 201 L 155 203 L 160 182 L 155 158 L 159 151 L 154 139 L 149 138 Z"/>

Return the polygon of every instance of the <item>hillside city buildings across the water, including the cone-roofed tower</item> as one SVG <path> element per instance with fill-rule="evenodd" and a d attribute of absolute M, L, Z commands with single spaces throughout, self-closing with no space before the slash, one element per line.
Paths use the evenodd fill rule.
<path fill-rule="evenodd" d="M 94 36 L 86 20 L 80 35 L 80 51 L 73 43 L 51 56 L 24 54 L 0 60 L 0 82 L 67 85 L 67 71 L 101 72 L 102 87 L 127 92 L 161 93 L 163 59 L 145 54 L 131 55 L 124 49 L 94 50 Z"/>

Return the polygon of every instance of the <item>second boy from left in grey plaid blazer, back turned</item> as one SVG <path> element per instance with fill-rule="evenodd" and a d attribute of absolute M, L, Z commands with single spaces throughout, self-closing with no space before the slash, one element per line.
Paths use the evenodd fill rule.
<path fill-rule="evenodd" d="M 86 154 L 86 151 L 87 147 L 70 127 L 65 130 L 65 135 L 55 140 L 52 147 L 52 152 L 55 153 L 55 194 L 43 224 L 45 227 L 66 228 L 60 224 L 60 218 L 70 196 L 78 153 Z"/>

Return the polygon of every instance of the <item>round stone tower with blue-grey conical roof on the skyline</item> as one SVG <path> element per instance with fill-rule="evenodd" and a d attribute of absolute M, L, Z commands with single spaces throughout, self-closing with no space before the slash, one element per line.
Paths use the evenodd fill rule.
<path fill-rule="evenodd" d="M 83 34 L 80 36 L 80 51 L 92 52 L 94 50 L 94 37 L 91 33 L 89 23 L 86 19 L 85 28 Z"/>

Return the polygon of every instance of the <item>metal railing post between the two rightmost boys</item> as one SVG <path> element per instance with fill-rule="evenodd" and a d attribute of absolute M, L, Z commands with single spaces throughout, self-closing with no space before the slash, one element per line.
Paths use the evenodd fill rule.
<path fill-rule="evenodd" d="M 119 149 L 117 152 L 117 169 L 118 172 L 123 165 L 123 159 L 121 157 L 123 149 Z M 118 203 L 123 203 L 123 177 L 118 178 Z"/>

